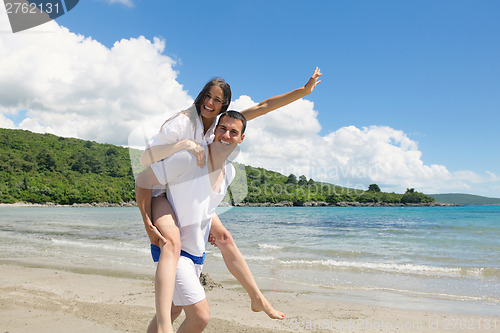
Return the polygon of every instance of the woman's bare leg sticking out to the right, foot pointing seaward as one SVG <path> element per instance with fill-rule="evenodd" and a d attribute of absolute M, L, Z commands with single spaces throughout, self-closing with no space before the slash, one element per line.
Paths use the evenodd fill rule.
<path fill-rule="evenodd" d="M 272 319 L 284 319 L 285 314 L 275 310 L 260 291 L 245 258 L 243 258 L 234 243 L 229 231 L 222 225 L 217 214 L 213 215 L 210 233 L 215 237 L 215 244 L 220 249 L 229 272 L 233 274 L 250 296 L 252 311 L 264 311 Z"/>

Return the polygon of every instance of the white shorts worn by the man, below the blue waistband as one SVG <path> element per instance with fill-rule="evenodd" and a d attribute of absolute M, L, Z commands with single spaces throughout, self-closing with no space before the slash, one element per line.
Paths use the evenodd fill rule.
<path fill-rule="evenodd" d="M 205 299 L 205 290 L 200 283 L 202 268 L 203 265 L 197 265 L 187 257 L 179 257 L 173 297 L 175 306 L 196 304 Z"/>

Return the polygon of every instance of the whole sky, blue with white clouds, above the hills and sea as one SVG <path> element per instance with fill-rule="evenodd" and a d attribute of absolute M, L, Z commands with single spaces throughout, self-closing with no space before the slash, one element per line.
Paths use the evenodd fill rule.
<path fill-rule="evenodd" d="M 0 127 L 134 145 L 213 77 L 243 110 L 318 66 L 312 94 L 249 123 L 238 161 L 500 197 L 499 15 L 495 0 L 82 0 L 12 33 L 0 6 Z"/>

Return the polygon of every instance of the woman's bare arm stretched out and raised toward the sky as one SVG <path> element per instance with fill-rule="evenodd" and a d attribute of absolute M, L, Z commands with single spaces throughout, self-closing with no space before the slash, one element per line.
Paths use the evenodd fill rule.
<path fill-rule="evenodd" d="M 268 98 L 260 102 L 259 104 L 252 106 L 251 108 L 241 111 L 241 113 L 245 116 L 246 120 L 251 120 L 265 115 L 266 113 L 276 110 L 282 106 L 295 102 L 296 100 L 312 93 L 314 88 L 316 88 L 316 86 L 321 82 L 321 80 L 318 80 L 321 75 L 323 74 L 321 74 L 319 68 L 316 67 L 313 75 L 311 76 L 309 81 L 307 81 L 305 86 L 282 95 Z"/>

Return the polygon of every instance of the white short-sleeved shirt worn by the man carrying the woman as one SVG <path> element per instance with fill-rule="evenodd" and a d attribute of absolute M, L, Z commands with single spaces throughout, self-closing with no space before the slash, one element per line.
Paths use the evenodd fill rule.
<path fill-rule="evenodd" d="M 212 189 L 207 166 L 200 168 L 196 158 L 186 150 L 152 164 L 151 168 L 160 184 L 168 184 L 167 198 L 177 216 L 181 249 L 201 257 L 208 241 L 212 215 L 234 179 L 233 165 L 226 161 L 219 193 Z"/>

